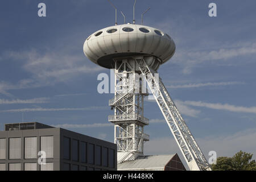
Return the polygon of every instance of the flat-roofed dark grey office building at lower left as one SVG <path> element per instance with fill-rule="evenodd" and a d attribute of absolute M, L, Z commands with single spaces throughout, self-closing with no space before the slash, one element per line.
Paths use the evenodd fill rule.
<path fill-rule="evenodd" d="M 46 163 L 39 164 L 39 151 Z M 115 171 L 117 146 L 38 122 L 6 124 L 0 131 L 0 171 Z"/>

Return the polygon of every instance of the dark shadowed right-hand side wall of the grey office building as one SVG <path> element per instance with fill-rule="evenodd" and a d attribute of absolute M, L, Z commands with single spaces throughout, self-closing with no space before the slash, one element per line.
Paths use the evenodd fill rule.
<path fill-rule="evenodd" d="M 64 142 L 66 141 L 66 142 Z M 77 147 L 77 141 L 79 146 Z M 75 143 L 73 143 L 75 142 Z M 67 144 L 69 143 L 69 144 Z M 100 168 L 102 170 L 117 170 L 117 146 L 114 143 L 106 142 L 104 140 L 96 139 L 86 135 L 81 135 L 69 130 L 60 129 L 60 167 L 63 168 L 64 164 L 70 164 L 69 169 L 73 169 L 73 165 L 78 165 L 79 170 L 95 170 Z M 69 147 L 68 147 L 69 146 Z M 78 152 L 77 149 L 78 148 Z M 102 148 L 106 148 L 112 156 L 109 156 L 109 152 L 105 152 L 105 158 L 103 156 Z M 69 151 L 70 159 L 65 159 L 66 151 Z M 76 154 L 73 154 L 75 152 Z M 77 161 L 77 153 L 79 154 L 79 161 Z M 112 162 L 108 162 L 112 159 Z M 105 166 L 103 166 L 105 161 Z M 67 168 L 65 168 L 67 169 Z M 64 170 L 64 169 L 60 169 Z"/>

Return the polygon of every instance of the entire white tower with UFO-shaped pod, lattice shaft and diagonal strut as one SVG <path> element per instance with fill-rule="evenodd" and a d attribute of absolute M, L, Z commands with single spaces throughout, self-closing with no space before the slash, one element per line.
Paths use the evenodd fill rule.
<path fill-rule="evenodd" d="M 118 163 L 143 155 L 143 144 L 149 140 L 144 133 L 149 122 L 143 113 L 147 83 L 189 168 L 211 170 L 162 80 L 157 79 L 159 66 L 171 59 L 175 49 L 163 31 L 130 23 L 104 28 L 85 40 L 86 57 L 114 70 L 115 95 L 109 100 L 114 115 L 109 121 L 114 123 Z"/>

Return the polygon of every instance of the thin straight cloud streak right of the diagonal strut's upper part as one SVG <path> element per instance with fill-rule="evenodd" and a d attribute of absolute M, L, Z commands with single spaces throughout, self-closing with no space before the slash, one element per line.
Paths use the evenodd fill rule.
<path fill-rule="evenodd" d="M 230 82 L 207 82 L 198 84 L 184 84 L 184 85 L 167 85 L 167 88 L 171 89 L 183 89 L 183 88 L 200 88 L 205 86 L 228 86 L 228 85 L 238 85 L 243 84 L 242 82 L 230 81 Z"/>

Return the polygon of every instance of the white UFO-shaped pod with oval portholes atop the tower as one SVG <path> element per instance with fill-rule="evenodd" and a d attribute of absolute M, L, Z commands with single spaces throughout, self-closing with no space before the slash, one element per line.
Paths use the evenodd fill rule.
<path fill-rule="evenodd" d="M 175 52 L 171 37 L 157 28 L 137 24 L 122 24 L 103 28 L 85 40 L 84 53 L 88 59 L 105 68 L 113 68 L 114 59 L 139 55 L 154 56 L 160 64 Z M 155 62 L 155 61 L 154 61 Z M 155 69 L 159 65 L 154 63 Z"/>

